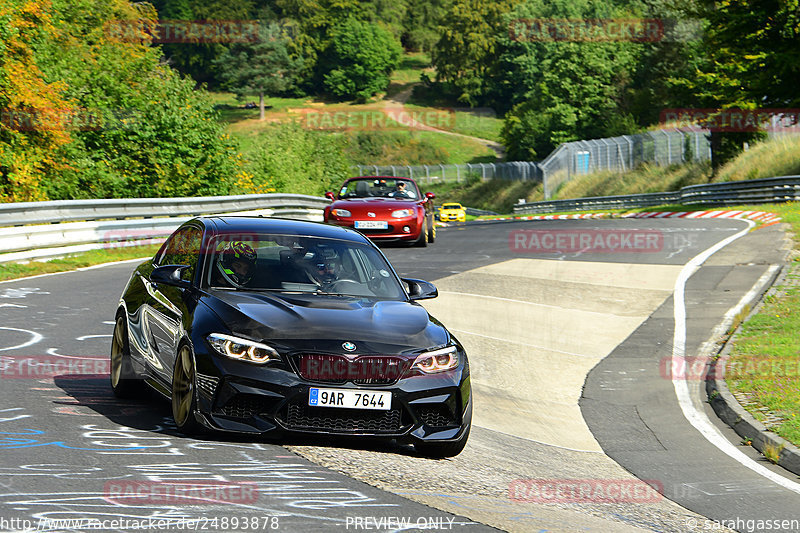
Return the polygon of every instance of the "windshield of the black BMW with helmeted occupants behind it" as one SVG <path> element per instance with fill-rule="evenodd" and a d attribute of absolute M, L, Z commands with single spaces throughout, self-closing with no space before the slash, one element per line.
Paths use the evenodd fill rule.
<path fill-rule="evenodd" d="M 217 236 L 210 249 L 207 287 L 405 300 L 385 258 L 366 244 L 248 233 Z"/>

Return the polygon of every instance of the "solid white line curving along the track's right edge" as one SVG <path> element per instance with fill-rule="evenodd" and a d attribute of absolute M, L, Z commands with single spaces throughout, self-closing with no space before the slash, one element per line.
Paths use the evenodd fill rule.
<path fill-rule="evenodd" d="M 686 282 L 694 274 L 700 265 L 702 265 L 711 255 L 718 252 L 728 244 L 736 239 L 746 235 L 755 225 L 751 220 L 745 220 L 747 228 L 742 231 L 731 235 L 716 243 L 714 246 L 704 250 L 700 254 L 692 258 L 691 261 L 681 270 L 678 279 L 675 280 L 675 293 L 674 293 L 674 318 L 675 318 L 675 332 L 672 338 L 672 364 L 682 362 L 686 356 L 686 302 L 685 291 Z M 749 294 L 749 293 L 748 293 Z M 741 303 L 741 302 L 740 302 Z M 738 306 L 737 306 L 738 307 Z M 727 315 L 726 315 L 727 316 Z M 721 452 L 729 456 L 734 461 L 738 462 L 745 468 L 749 468 L 756 474 L 759 474 L 770 481 L 788 489 L 792 492 L 800 494 L 800 483 L 796 483 L 787 479 L 780 474 L 777 474 L 768 468 L 760 465 L 747 457 L 741 450 L 731 444 L 727 438 L 711 423 L 706 414 L 698 410 L 692 402 L 691 395 L 689 394 L 689 385 L 685 379 L 673 380 L 675 387 L 675 395 L 678 397 L 678 404 L 681 407 L 683 416 L 694 428 L 700 432 L 703 437 L 711 444 L 716 446 Z"/>

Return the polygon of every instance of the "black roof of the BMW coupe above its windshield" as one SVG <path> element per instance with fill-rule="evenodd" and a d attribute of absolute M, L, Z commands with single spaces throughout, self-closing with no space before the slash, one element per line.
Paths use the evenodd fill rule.
<path fill-rule="evenodd" d="M 215 234 L 258 232 L 277 235 L 323 237 L 369 243 L 366 237 L 355 230 L 334 226 L 332 224 L 309 222 L 305 220 L 261 216 L 211 215 L 196 217 L 192 219 L 192 221 L 201 223 L 207 230 Z"/>

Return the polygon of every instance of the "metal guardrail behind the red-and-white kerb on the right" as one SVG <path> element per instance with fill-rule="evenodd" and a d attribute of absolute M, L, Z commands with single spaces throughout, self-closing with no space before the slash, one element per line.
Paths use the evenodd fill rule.
<path fill-rule="evenodd" d="M 514 206 L 514 213 L 555 213 L 595 209 L 625 209 L 657 205 L 737 205 L 800 200 L 800 176 L 689 185 L 676 192 L 596 196 L 570 200 L 529 202 Z"/>

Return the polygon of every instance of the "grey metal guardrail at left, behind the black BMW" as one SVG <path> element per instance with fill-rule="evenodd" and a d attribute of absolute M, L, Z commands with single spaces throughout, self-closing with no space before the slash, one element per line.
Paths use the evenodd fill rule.
<path fill-rule="evenodd" d="M 0 262 L 160 242 L 196 215 L 322 220 L 326 198 L 259 194 L 0 204 Z M 80 222 L 76 222 L 80 221 Z"/>

